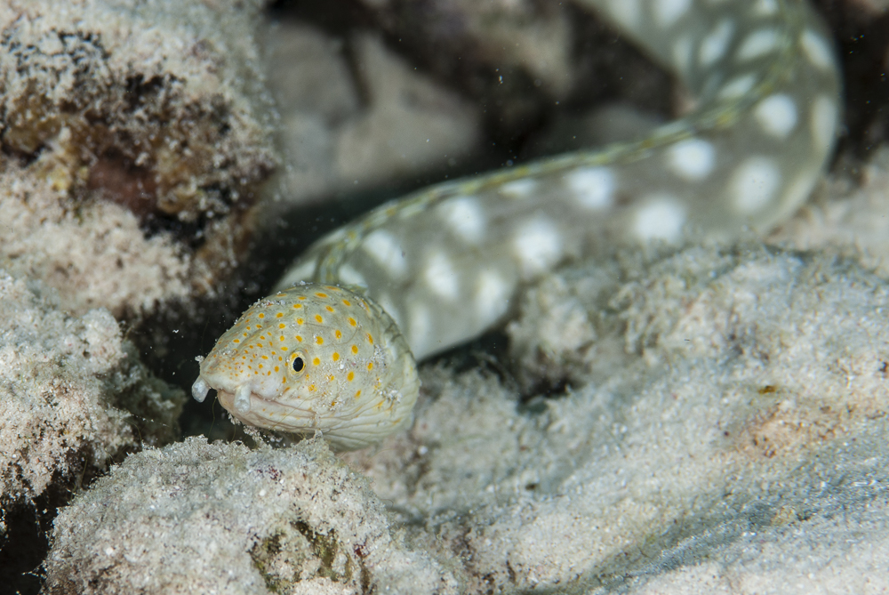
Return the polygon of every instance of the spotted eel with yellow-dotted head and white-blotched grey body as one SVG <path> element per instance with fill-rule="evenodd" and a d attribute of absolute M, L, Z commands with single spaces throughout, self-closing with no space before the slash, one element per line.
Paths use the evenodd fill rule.
<path fill-rule="evenodd" d="M 411 422 L 419 387 L 411 352 L 425 358 L 501 323 L 521 285 L 607 246 L 678 242 L 689 230 L 720 239 L 765 231 L 805 201 L 840 106 L 833 46 L 808 4 L 586 4 L 674 72 L 697 108 L 643 140 L 439 184 L 337 229 L 284 273 L 280 293 L 220 338 L 201 364 L 197 400 L 214 388 L 245 423 L 320 430 L 339 449 L 366 446 Z M 341 289 L 288 289 L 301 281 Z M 324 323 L 309 327 L 294 310 L 304 297 Z M 335 342 L 332 333 L 353 329 L 341 300 L 364 314 L 355 334 Z M 336 310 L 325 313 L 327 305 Z M 280 334 L 254 326 L 263 313 Z M 373 351 L 363 333 L 374 336 Z M 294 372 L 284 363 L 300 349 L 307 367 Z M 280 372 L 263 367 L 262 377 L 263 357 Z"/>

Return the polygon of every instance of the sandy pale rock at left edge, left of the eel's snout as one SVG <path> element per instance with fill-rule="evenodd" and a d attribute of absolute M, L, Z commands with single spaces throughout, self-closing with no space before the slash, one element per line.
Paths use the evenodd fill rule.
<path fill-rule="evenodd" d="M 177 437 L 185 394 L 140 364 L 108 310 L 71 316 L 52 289 L 0 269 L 0 320 L 4 511 Z"/>

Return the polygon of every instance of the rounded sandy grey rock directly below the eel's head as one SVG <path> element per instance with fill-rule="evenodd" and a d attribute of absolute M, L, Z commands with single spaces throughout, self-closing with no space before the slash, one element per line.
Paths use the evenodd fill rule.
<path fill-rule="evenodd" d="M 46 593 L 455 593 L 323 441 L 129 457 L 60 513 Z"/>

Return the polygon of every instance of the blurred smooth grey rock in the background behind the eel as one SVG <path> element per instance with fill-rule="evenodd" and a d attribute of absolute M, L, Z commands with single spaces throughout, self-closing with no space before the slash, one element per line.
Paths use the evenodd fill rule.
<path fill-rule="evenodd" d="M 379 35 L 346 40 L 293 20 L 269 26 L 269 87 L 281 112 L 284 173 L 273 211 L 462 164 L 478 150 L 481 109 Z"/>

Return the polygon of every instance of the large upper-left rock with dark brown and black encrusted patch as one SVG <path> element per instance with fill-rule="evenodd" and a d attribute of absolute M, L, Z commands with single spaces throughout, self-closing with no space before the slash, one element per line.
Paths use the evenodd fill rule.
<path fill-rule="evenodd" d="M 214 293 L 276 165 L 260 7 L 0 4 L 0 265 L 80 313 Z"/>

